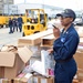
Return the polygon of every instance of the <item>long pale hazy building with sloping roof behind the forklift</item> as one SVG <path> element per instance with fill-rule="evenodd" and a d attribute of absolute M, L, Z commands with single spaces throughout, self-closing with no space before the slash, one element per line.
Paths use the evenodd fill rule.
<path fill-rule="evenodd" d="M 49 15 L 53 15 L 63 10 L 62 8 L 48 6 L 48 4 L 19 3 L 19 4 L 9 4 L 9 7 L 8 7 L 8 4 L 6 4 L 4 13 L 6 14 L 24 14 L 25 9 L 44 9 L 45 13 L 48 13 Z"/>

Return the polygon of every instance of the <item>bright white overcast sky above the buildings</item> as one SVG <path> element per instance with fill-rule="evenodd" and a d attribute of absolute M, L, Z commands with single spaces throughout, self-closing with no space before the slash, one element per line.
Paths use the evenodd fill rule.
<path fill-rule="evenodd" d="M 44 3 L 60 8 L 83 10 L 83 0 L 14 0 L 14 3 Z"/>

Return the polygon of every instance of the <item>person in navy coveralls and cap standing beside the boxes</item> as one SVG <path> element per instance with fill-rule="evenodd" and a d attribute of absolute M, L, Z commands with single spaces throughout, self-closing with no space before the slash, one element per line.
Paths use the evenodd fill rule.
<path fill-rule="evenodd" d="M 48 50 L 50 53 L 53 52 L 56 62 L 54 68 L 54 83 L 72 83 L 77 70 L 73 55 L 79 44 L 79 35 L 72 23 L 76 15 L 71 9 L 65 9 L 56 15 L 61 17 L 61 24 L 64 28 L 60 32 L 59 28 L 53 25 L 55 41 L 53 49 Z"/>

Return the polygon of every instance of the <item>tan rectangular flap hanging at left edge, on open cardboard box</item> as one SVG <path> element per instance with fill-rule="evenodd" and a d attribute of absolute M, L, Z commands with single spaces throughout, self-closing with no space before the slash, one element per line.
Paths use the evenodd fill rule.
<path fill-rule="evenodd" d="M 14 59 L 13 52 L 0 52 L 0 66 L 13 66 Z"/>

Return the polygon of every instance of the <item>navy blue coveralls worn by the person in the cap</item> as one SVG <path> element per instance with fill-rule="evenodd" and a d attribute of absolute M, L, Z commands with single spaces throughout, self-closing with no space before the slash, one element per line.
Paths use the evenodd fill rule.
<path fill-rule="evenodd" d="M 73 27 L 61 32 L 59 39 L 53 43 L 53 55 L 55 60 L 55 83 L 72 83 L 73 76 L 76 73 L 76 63 L 73 54 L 79 44 L 79 35 Z"/>

